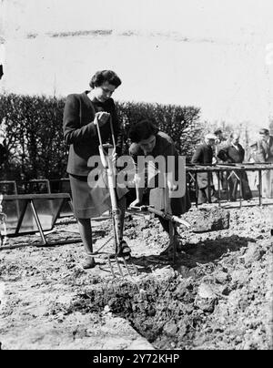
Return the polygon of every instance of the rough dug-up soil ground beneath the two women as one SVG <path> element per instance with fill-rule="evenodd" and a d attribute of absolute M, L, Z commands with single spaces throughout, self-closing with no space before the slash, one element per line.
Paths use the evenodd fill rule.
<path fill-rule="evenodd" d="M 159 221 L 127 214 L 132 261 L 128 269 L 111 261 L 115 277 L 111 220 L 93 223 L 92 270 L 81 267 L 81 243 L 39 247 L 37 234 L 9 238 L 0 251 L 1 348 L 272 349 L 272 210 L 203 208 L 184 219 L 197 231 L 208 219 L 215 231 L 180 228 L 183 250 L 170 258 L 160 255 L 168 237 Z M 78 237 L 72 217 L 46 235 Z"/>

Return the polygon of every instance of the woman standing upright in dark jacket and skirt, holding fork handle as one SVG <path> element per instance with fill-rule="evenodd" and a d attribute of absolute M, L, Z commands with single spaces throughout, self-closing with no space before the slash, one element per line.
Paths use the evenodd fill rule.
<path fill-rule="evenodd" d="M 116 154 L 122 152 L 122 132 L 119 126 L 116 107 L 112 94 L 121 85 L 121 80 L 111 70 L 96 72 L 91 78 L 90 90 L 82 94 L 69 95 L 66 98 L 64 111 L 64 137 L 69 145 L 67 172 L 69 174 L 73 207 L 79 232 L 86 249 L 85 269 L 93 268 L 96 262 L 93 257 L 92 228 L 90 219 L 105 212 L 109 206 L 109 198 L 97 204 L 87 178 L 92 169 L 88 167 L 89 158 L 99 155 L 97 127 L 101 132 L 102 143 L 111 141 L 110 119 L 116 138 Z M 116 154 L 114 157 L 116 157 Z M 125 212 L 125 198 L 120 199 L 122 225 Z M 122 226 L 123 228 L 123 226 Z M 119 250 L 119 255 L 126 254 L 130 249 L 126 246 Z"/>

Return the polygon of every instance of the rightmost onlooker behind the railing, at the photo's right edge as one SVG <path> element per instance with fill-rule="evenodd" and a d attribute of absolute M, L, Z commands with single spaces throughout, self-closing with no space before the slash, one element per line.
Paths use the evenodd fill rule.
<path fill-rule="evenodd" d="M 259 162 L 273 163 L 273 137 L 267 128 L 258 132 L 258 160 Z M 263 176 L 263 187 L 266 198 L 273 198 L 273 171 L 267 170 Z"/>

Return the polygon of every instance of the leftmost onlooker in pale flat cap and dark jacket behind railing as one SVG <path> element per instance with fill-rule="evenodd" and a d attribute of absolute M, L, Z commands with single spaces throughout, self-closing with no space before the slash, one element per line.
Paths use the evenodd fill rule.
<path fill-rule="evenodd" d="M 213 146 L 216 141 L 214 134 L 208 133 L 204 138 L 204 143 L 197 146 L 197 149 L 191 159 L 191 163 L 195 165 L 212 165 L 213 158 Z M 211 202 L 217 201 L 215 197 L 215 189 L 212 181 L 212 174 L 209 172 L 200 172 L 197 174 L 197 186 L 198 186 L 198 204 L 206 203 L 209 201 L 208 195 L 208 180 L 210 182 L 211 189 Z"/>

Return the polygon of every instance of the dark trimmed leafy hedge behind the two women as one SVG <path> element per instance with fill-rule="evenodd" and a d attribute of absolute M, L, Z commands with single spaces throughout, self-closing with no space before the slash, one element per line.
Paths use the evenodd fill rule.
<path fill-rule="evenodd" d="M 0 121 L 6 126 L 8 159 L 1 179 L 59 179 L 66 177 L 68 148 L 63 139 L 65 98 L 5 94 L 0 97 Z M 203 127 L 199 108 L 117 102 L 123 123 L 125 153 L 128 129 L 140 118 L 151 119 L 174 139 L 180 154 L 189 159 Z"/>

